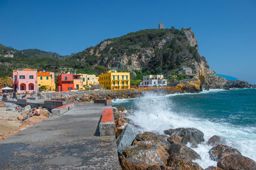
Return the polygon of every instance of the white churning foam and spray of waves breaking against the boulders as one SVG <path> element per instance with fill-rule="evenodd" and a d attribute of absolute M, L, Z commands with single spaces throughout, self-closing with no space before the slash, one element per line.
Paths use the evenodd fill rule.
<path fill-rule="evenodd" d="M 220 92 L 221 90 L 203 91 L 202 94 Z M 128 118 L 142 131 L 151 131 L 164 134 L 164 130 L 179 127 L 195 127 L 204 132 L 205 142 L 198 145 L 194 150 L 202 157 L 202 160 L 195 160 L 200 166 L 216 166 L 217 162 L 209 159 L 209 150 L 212 146 L 206 141 L 213 135 L 220 135 L 227 139 L 228 145 L 237 148 L 244 156 L 256 160 L 256 134 L 255 127 L 234 127 L 231 124 L 221 121 L 221 123 L 211 122 L 203 118 L 191 117 L 189 113 L 178 114 L 172 111 L 174 106 L 172 97 L 186 94 L 172 94 L 158 96 L 156 93 L 147 93 L 144 97 L 134 99 L 134 113 Z M 114 101 L 115 104 L 127 103 L 127 100 Z M 185 115 L 185 116 L 184 116 Z"/>

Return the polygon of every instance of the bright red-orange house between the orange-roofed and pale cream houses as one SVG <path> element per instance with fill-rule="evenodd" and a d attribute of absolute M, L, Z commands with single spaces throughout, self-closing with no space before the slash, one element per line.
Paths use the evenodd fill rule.
<path fill-rule="evenodd" d="M 74 90 L 73 74 L 60 74 L 58 76 L 57 92 L 69 92 Z"/>

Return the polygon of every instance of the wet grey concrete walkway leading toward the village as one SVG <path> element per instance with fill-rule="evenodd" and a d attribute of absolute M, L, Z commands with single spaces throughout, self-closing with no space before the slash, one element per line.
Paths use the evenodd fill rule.
<path fill-rule="evenodd" d="M 0 169 L 120 169 L 115 136 L 100 137 L 104 104 L 78 103 L 0 141 Z"/>

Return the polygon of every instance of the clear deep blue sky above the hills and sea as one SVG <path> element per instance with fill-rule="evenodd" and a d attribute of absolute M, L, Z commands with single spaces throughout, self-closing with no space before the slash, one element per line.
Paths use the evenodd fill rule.
<path fill-rule="evenodd" d="M 0 0 L 0 43 L 61 55 L 141 29 L 191 27 L 216 73 L 256 84 L 256 1 Z"/>

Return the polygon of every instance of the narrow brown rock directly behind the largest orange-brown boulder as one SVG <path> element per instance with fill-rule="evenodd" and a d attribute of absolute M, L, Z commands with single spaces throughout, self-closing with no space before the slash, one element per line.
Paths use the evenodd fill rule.
<path fill-rule="evenodd" d="M 170 143 L 167 141 L 168 136 L 155 134 L 153 132 L 144 132 L 143 134 L 137 134 L 132 145 L 140 141 L 150 141 L 151 143 L 159 143 L 165 149 L 169 148 Z"/>

